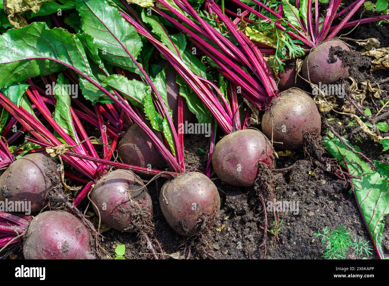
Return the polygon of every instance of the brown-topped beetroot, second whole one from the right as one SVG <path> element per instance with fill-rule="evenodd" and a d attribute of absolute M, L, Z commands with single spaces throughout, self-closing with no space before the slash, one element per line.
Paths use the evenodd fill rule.
<path fill-rule="evenodd" d="M 304 135 L 310 130 L 320 133 L 320 114 L 314 100 L 298 88 L 282 92 L 262 117 L 263 133 L 273 136 L 274 145 L 283 149 L 303 147 Z"/>

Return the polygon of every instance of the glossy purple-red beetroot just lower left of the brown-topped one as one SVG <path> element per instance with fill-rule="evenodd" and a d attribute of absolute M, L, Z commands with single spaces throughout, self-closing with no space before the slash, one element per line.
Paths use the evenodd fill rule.
<path fill-rule="evenodd" d="M 252 186 L 261 161 L 273 167 L 273 147 L 261 132 L 238 130 L 217 142 L 212 154 L 212 166 L 217 176 L 232 186 Z"/>

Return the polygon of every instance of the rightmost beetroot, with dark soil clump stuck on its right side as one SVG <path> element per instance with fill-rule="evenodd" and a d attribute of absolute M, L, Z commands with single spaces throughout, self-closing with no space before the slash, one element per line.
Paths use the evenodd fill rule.
<path fill-rule="evenodd" d="M 331 47 L 337 46 L 350 51 L 349 47 L 341 40 L 323 42 L 310 51 L 302 66 L 303 76 L 307 81 L 314 84 L 319 84 L 319 82 L 332 84 L 342 77 L 345 79 L 349 77 L 349 67 L 345 67 L 338 56 L 330 55 Z"/>

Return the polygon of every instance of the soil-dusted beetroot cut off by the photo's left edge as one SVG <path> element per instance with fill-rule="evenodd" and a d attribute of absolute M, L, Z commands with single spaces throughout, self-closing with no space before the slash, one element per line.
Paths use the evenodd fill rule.
<path fill-rule="evenodd" d="M 14 161 L 1 175 L 0 187 L 1 201 L 31 202 L 31 212 L 43 209 L 48 194 L 62 189 L 56 161 L 41 153 L 27 154 Z"/>

